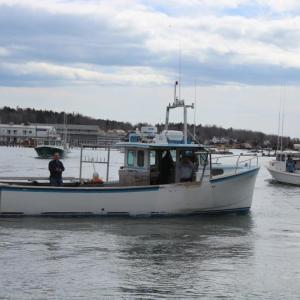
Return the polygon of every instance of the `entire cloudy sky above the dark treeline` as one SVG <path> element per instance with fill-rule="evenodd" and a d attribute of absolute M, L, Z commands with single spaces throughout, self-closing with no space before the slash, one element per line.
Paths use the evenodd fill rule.
<path fill-rule="evenodd" d="M 300 137 L 300 1 L 0 0 L 0 106 Z M 182 121 L 182 111 L 171 121 Z"/>

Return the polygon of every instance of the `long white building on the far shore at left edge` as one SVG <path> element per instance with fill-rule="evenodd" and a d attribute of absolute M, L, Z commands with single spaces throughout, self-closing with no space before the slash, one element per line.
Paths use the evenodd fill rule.
<path fill-rule="evenodd" d="M 0 124 L 1 144 L 21 144 L 33 140 L 56 138 L 53 126 Z"/>

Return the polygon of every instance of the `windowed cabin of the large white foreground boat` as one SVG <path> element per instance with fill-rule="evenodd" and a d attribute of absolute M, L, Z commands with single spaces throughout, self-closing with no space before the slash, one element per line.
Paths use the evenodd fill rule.
<path fill-rule="evenodd" d="M 124 165 L 119 183 L 125 186 L 195 182 L 208 164 L 209 153 L 200 145 L 178 143 L 120 143 Z"/>

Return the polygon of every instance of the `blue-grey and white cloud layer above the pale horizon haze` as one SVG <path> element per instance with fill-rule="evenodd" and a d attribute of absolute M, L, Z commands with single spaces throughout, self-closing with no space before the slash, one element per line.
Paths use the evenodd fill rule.
<path fill-rule="evenodd" d="M 0 84 L 167 84 L 179 60 L 187 83 L 297 83 L 299 9 L 292 0 L 0 0 Z"/>

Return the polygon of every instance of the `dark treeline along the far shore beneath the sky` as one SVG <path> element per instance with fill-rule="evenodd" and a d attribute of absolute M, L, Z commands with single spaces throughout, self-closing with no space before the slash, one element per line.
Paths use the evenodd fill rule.
<path fill-rule="evenodd" d="M 0 123 L 14 123 L 14 124 L 62 124 L 64 118 L 68 124 L 81 124 L 81 125 L 97 125 L 102 130 L 122 129 L 125 131 L 132 131 L 135 128 L 149 125 L 147 123 L 131 124 L 129 122 L 118 122 L 114 120 L 94 119 L 91 117 L 83 116 L 78 113 L 54 112 L 49 110 L 36 110 L 32 108 L 10 108 L 3 107 L 0 109 Z M 158 131 L 164 129 L 164 124 L 156 124 Z M 183 130 L 183 123 L 170 123 L 169 129 Z M 188 125 L 188 131 L 193 134 L 193 125 Z M 203 126 L 201 124 L 196 126 L 196 138 L 199 142 L 211 140 L 213 137 L 226 138 L 229 143 L 249 143 L 253 147 L 271 147 L 276 149 L 278 137 L 276 135 L 268 135 L 262 132 L 222 128 L 218 126 Z M 292 148 L 293 144 L 300 143 L 299 139 L 291 139 L 284 137 L 283 146 Z"/>

